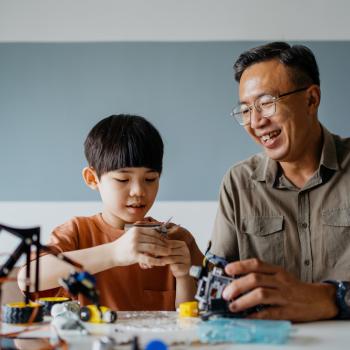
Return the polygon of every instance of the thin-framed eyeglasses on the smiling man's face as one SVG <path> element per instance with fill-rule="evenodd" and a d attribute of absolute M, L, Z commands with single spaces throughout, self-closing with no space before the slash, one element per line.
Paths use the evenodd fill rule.
<path fill-rule="evenodd" d="M 286 92 L 285 94 L 281 94 L 279 96 L 271 96 L 271 95 L 260 96 L 250 106 L 248 106 L 245 103 L 242 103 L 236 106 L 235 108 L 233 108 L 231 115 L 238 121 L 240 125 L 243 125 L 243 126 L 250 124 L 252 110 L 254 107 L 255 107 L 255 110 L 259 112 L 263 118 L 270 118 L 276 112 L 276 102 L 278 100 L 280 100 L 282 97 L 296 94 L 297 92 L 305 91 L 308 88 L 309 86 L 303 87 L 300 89 Z"/>

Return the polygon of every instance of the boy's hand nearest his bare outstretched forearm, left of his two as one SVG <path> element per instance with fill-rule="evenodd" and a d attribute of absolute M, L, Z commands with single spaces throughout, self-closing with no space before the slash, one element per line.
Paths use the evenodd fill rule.
<path fill-rule="evenodd" d="M 116 266 L 136 263 L 145 266 L 164 266 L 162 257 L 171 253 L 171 248 L 159 232 L 144 227 L 132 227 L 113 244 Z"/>

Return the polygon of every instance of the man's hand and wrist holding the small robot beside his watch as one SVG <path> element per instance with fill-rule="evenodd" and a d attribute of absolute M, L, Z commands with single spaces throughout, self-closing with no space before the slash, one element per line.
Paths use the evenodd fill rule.
<path fill-rule="evenodd" d="M 301 282 L 282 268 L 258 259 L 230 263 L 225 271 L 242 276 L 223 292 L 223 298 L 231 301 L 232 312 L 266 305 L 250 317 L 294 322 L 330 319 L 338 313 L 332 285 Z"/>

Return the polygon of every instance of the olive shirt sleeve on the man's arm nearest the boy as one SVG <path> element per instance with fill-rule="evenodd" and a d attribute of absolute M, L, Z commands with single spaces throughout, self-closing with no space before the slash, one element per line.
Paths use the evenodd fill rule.
<path fill-rule="evenodd" d="M 219 206 L 211 235 L 210 253 L 227 261 L 239 259 L 235 224 L 234 189 L 229 171 L 221 184 Z"/>

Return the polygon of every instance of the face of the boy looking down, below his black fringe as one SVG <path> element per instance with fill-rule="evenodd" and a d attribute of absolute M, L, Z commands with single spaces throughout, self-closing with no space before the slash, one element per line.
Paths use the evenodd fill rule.
<path fill-rule="evenodd" d="M 96 184 L 109 224 L 142 220 L 152 207 L 159 188 L 159 173 L 149 168 L 122 168 L 101 176 Z"/>

